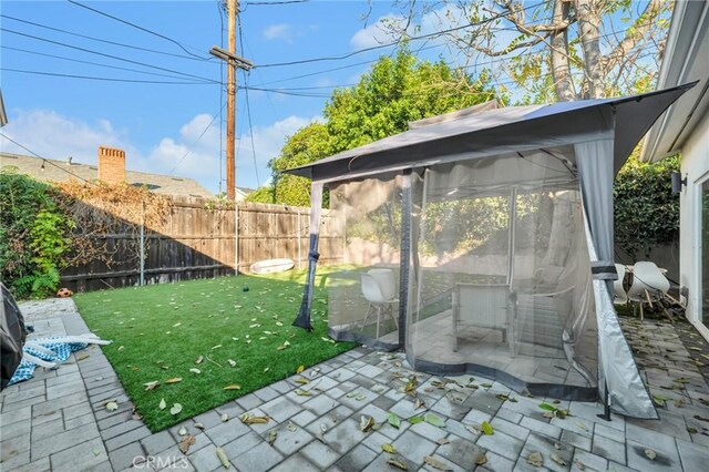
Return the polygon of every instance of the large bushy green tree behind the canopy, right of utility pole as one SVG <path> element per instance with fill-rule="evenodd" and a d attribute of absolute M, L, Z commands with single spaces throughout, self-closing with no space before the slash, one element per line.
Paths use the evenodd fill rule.
<path fill-rule="evenodd" d="M 269 162 L 271 186 L 248 199 L 309 206 L 309 179 L 280 171 L 400 133 L 411 121 L 493 100 L 489 82 L 487 74 L 474 79 L 442 60 L 421 61 L 405 45 L 393 58 L 381 57 L 356 86 L 335 90 L 323 110 L 325 123 L 312 123 L 288 138 Z"/>

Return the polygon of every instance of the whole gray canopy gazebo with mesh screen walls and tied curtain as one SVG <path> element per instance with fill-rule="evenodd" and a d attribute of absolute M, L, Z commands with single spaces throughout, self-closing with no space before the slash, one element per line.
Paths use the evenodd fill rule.
<path fill-rule="evenodd" d="M 688 85 L 691 86 L 691 85 Z M 613 178 L 688 86 L 624 99 L 486 103 L 287 172 L 312 178 L 310 328 L 323 188 L 345 219 L 327 277 L 330 336 L 404 349 L 433 373 L 604 398 L 657 418 L 608 290 Z"/>

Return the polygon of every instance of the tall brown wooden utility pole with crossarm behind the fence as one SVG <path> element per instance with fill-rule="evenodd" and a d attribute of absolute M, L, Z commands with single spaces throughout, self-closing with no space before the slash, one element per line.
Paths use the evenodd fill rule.
<path fill-rule="evenodd" d="M 209 54 L 226 61 L 226 195 L 234 201 L 236 197 L 236 68 L 249 70 L 254 64 L 244 58 L 236 55 L 236 13 L 237 0 L 225 0 L 228 16 L 228 50 L 213 45 Z"/>

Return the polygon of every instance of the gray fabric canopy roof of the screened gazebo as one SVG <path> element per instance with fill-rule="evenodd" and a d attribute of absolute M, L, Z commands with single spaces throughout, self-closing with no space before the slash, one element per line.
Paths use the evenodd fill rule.
<path fill-rule="evenodd" d="M 314 181 L 340 179 L 442 162 L 614 137 L 618 172 L 660 114 L 693 86 L 615 99 L 508 106 L 417 127 L 312 164 L 284 171 Z"/>

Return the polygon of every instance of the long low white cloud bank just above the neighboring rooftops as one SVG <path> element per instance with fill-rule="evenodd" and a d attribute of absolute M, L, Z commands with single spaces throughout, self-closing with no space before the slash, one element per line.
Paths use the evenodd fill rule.
<path fill-rule="evenodd" d="M 213 115 L 197 114 L 182 125 L 175 136 L 161 137 L 156 144 L 144 147 L 131 143 L 127 132 L 116 131 L 107 120 L 86 123 L 49 110 L 13 110 L 2 133 L 42 157 L 65 160 L 72 156 L 74 162 L 93 165 L 96 163 L 99 146 L 120 147 L 126 152 L 129 171 L 194 178 L 216 193 L 219 191 L 219 175 L 224 174 L 220 167 L 225 164 L 219 160 L 218 119 L 214 122 L 212 120 Z M 286 137 L 315 120 L 316 117 L 291 115 L 267 126 L 254 127 L 256 164 L 261 184 L 269 177 L 268 161 L 278 155 Z M 203 132 L 204 135 L 199 137 Z M 226 147 L 226 142 L 223 145 Z M 244 134 L 240 145 L 239 142 L 236 145 L 237 184 L 256 187 L 250 135 Z M 0 148 L 9 153 L 29 154 L 2 137 Z"/>

